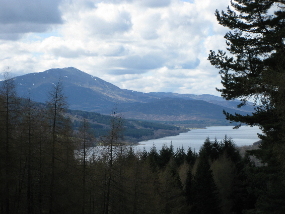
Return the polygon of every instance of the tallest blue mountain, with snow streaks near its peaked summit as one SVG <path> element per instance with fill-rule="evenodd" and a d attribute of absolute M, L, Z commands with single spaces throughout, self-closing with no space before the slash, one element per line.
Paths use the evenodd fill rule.
<path fill-rule="evenodd" d="M 100 78 L 86 74 L 74 67 L 54 68 L 15 78 L 17 92 L 25 97 L 30 94 L 37 102 L 45 102 L 52 84 L 62 79 L 64 93 L 71 109 L 96 111 L 114 103 L 135 102 L 123 90 Z"/>

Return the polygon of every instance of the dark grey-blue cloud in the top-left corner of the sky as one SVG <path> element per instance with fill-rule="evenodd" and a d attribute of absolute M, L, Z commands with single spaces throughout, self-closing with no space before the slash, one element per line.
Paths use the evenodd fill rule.
<path fill-rule="evenodd" d="M 0 39 L 17 40 L 24 33 L 45 32 L 62 24 L 59 0 L 0 1 Z"/>

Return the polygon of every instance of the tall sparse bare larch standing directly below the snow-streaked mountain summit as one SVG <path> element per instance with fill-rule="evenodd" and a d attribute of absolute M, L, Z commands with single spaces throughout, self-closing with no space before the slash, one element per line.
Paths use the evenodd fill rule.
<path fill-rule="evenodd" d="M 67 98 L 63 93 L 63 84 L 59 79 L 49 92 L 46 102 L 46 119 L 48 122 L 47 138 L 49 140 L 48 153 L 50 154 L 50 184 L 49 184 L 49 213 L 63 209 L 62 201 L 67 200 L 69 189 L 66 183 L 71 182 L 67 176 L 74 156 L 73 142 L 70 140 L 71 126 L 69 118 L 64 116 L 67 110 Z M 56 195 L 56 197 L 55 197 Z M 68 198 L 70 200 L 70 198 Z M 71 207 L 70 207 L 71 208 Z M 67 212 L 67 209 L 65 208 Z"/>

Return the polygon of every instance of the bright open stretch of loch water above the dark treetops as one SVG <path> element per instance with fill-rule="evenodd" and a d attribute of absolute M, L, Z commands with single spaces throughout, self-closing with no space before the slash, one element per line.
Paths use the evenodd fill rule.
<path fill-rule="evenodd" d="M 176 148 L 182 148 L 183 146 L 186 152 L 190 146 L 192 150 L 198 152 L 207 136 L 210 140 L 214 140 L 216 137 L 218 141 L 221 141 L 226 134 L 234 140 L 237 146 L 252 145 L 259 140 L 257 133 L 262 133 L 257 126 L 241 126 L 239 129 L 233 129 L 233 126 L 211 126 L 205 129 L 192 129 L 176 136 L 141 141 L 139 142 L 140 145 L 136 146 L 136 149 L 143 150 L 145 147 L 149 152 L 153 144 L 155 144 L 159 151 L 163 144 L 170 146 L 172 143 L 174 151 L 176 151 Z"/>

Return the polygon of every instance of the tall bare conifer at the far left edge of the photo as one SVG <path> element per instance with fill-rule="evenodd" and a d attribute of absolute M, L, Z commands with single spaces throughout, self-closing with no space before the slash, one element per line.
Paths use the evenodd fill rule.
<path fill-rule="evenodd" d="M 16 93 L 16 84 L 14 79 L 11 77 L 9 68 L 4 71 L 4 81 L 0 86 L 0 140 L 1 140 L 1 171 L 2 171 L 2 182 L 1 182 L 1 207 L 6 213 L 14 212 L 16 201 L 11 201 L 12 192 L 19 190 L 16 188 L 12 191 L 11 184 L 17 183 L 15 178 L 18 177 L 16 174 L 16 168 L 19 167 L 17 163 L 16 153 L 13 151 L 17 148 L 16 145 L 16 130 L 19 117 L 19 98 Z M 18 166 L 17 166 L 18 165 Z M 16 198 L 15 195 L 13 198 Z"/>

